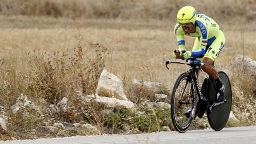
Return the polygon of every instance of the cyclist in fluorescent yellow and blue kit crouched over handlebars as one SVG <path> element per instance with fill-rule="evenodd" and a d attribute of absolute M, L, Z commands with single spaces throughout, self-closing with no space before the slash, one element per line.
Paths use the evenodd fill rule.
<path fill-rule="evenodd" d="M 183 59 L 197 57 L 197 60 L 203 62 L 202 69 L 216 83 L 215 101 L 225 102 L 224 84 L 219 79 L 216 69 L 212 67 L 225 44 L 225 36 L 219 25 L 205 14 L 197 14 L 192 6 L 181 8 L 177 13 L 177 21 L 174 31 L 178 40 L 178 49 L 174 50 L 173 57 Z M 192 51 L 185 48 L 185 35 L 195 37 Z"/>

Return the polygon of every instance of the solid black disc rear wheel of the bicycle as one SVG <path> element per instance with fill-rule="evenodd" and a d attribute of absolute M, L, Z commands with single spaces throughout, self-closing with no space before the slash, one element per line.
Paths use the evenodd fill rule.
<path fill-rule="evenodd" d="M 213 130 L 220 131 L 226 123 L 228 122 L 229 114 L 231 111 L 231 104 L 232 104 L 232 89 L 231 84 L 228 78 L 228 75 L 225 72 L 219 71 L 218 72 L 220 79 L 225 84 L 225 92 L 224 97 L 226 99 L 226 104 L 221 104 L 212 108 L 210 113 L 207 113 L 207 119 L 209 121 L 209 125 Z M 211 89 L 212 90 L 212 89 Z M 214 92 L 213 92 L 214 91 Z M 210 91 L 210 93 L 216 96 L 215 89 Z"/>

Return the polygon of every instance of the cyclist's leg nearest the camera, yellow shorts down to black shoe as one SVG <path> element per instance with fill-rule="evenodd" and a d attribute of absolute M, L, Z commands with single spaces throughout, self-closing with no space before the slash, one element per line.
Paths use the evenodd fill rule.
<path fill-rule="evenodd" d="M 217 70 L 212 67 L 212 64 L 214 63 L 214 60 L 219 56 L 222 49 L 224 48 L 225 43 L 225 37 L 222 33 L 222 31 L 219 31 L 216 35 L 216 39 L 210 47 L 208 48 L 207 52 L 205 52 L 205 56 L 203 58 L 203 63 L 205 64 L 202 69 L 204 72 L 206 72 L 212 80 L 216 83 L 216 91 L 217 91 L 217 97 L 216 101 L 224 101 L 224 84 L 219 79 L 219 74 L 217 73 Z"/>

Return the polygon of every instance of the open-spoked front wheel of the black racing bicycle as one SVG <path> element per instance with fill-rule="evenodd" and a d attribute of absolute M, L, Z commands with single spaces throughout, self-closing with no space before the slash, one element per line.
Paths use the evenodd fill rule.
<path fill-rule="evenodd" d="M 195 91 L 195 87 L 195 82 L 191 80 L 188 72 L 181 74 L 173 87 L 171 95 L 171 119 L 174 128 L 180 133 L 184 133 L 190 128 L 196 116 L 197 91 Z M 190 108 L 192 111 L 186 116 L 185 113 Z"/>

